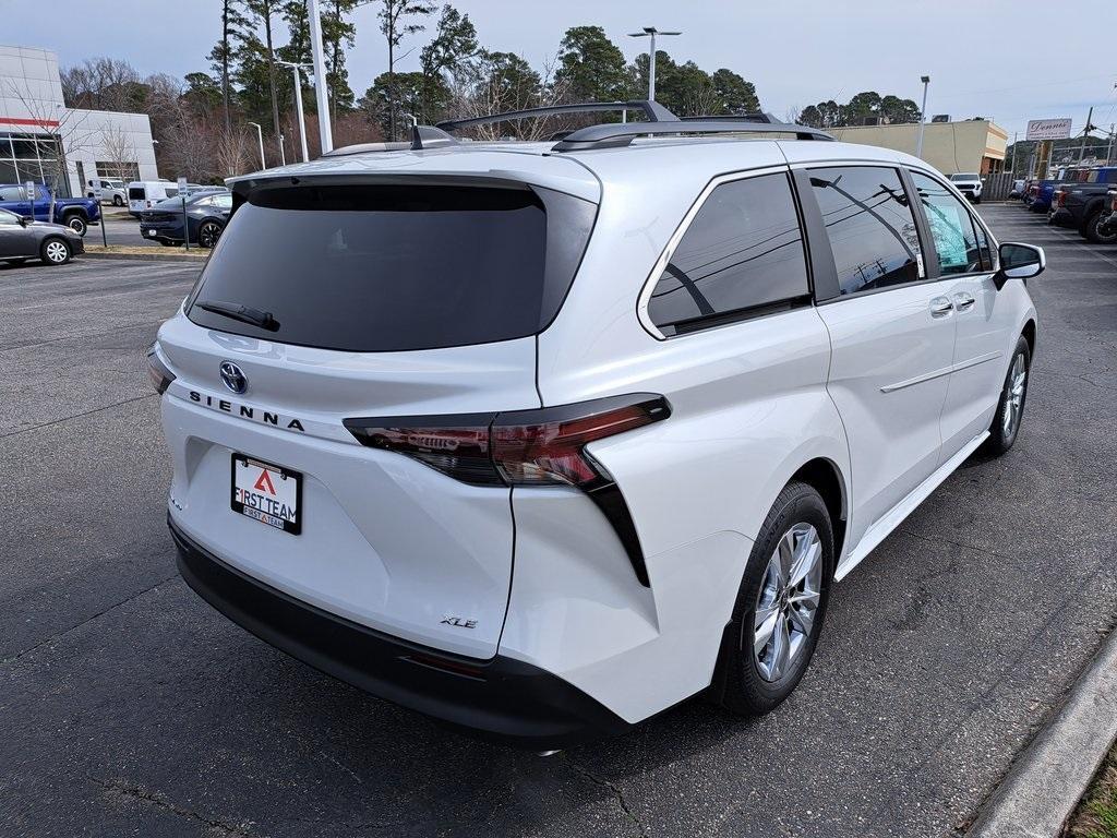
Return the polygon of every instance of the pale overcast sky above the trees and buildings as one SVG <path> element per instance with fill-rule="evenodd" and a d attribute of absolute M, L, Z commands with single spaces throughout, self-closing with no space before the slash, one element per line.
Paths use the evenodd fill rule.
<path fill-rule="evenodd" d="M 860 91 L 922 95 L 928 114 L 985 116 L 1010 136 L 1029 118 L 1086 112 L 1108 130 L 1117 121 L 1117 64 L 1104 47 L 1117 10 L 1113 0 L 1053 7 L 1038 0 L 455 0 L 481 44 L 517 53 L 540 67 L 563 31 L 595 23 L 628 58 L 647 48 L 626 37 L 643 26 L 680 29 L 661 47 L 682 63 L 728 67 L 756 85 L 761 103 L 783 118 L 792 106 L 847 102 Z M 360 96 L 386 67 L 374 3 L 356 12 L 350 84 Z M 841 8 L 841 7 L 847 8 Z M 1052 20 L 1056 8 L 1066 12 Z M 1072 18 L 1069 19 L 1069 18 Z M 0 42 L 54 49 L 63 66 L 107 55 L 142 74 L 182 76 L 206 69 L 220 36 L 220 0 L 0 0 Z M 1091 25 L 1091 21 L 1094 25 Z M 433 22 L 433 20 L 431 21 Z M 1050 27 L 1050 28 L 1049 28 Z M 281 37 L 286 30 L 280 25 Z M 1044 32 L 1048 32 L 1044 37 Z M 408 46 L 421 46 L 420 32 Z M 418 49 L 402 69 L 414 69 Z"/>

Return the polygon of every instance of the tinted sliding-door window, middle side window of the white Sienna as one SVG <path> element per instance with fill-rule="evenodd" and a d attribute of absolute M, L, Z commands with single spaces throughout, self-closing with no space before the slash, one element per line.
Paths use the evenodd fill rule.
<path fill-rule="evenodd" d="M 842 294 L 885 288 L 920 277 L 919 235 L 895 169 L 812 169 Z"/>

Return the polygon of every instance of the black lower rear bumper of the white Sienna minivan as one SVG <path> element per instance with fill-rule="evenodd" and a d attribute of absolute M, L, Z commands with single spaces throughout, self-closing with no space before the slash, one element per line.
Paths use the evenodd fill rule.
<path fill-rule="evenodd" d="M 168 517 L 179 572 L 233 622 L 322 672 L 462 732 L 519 747 L 567 747 L 630 725 L 562 678 L 499 655 L 478 661 L 390 637 L 241 573 Z M 619 676 L 623 677 L 623 676 Z"/>

